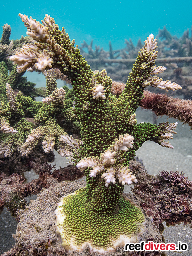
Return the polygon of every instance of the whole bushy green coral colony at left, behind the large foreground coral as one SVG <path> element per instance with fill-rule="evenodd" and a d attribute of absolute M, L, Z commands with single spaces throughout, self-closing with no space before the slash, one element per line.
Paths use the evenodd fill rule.
<path fill-rule="evenodd" d="M 10 33 L 11 27 L 5 24 L 0 43 L 0 169 L 8 174 L 21 174 L 52 162 L 52 151 L 53 148 L 57 149 L 59 141 L 55 143 L 55 139 L 46 140 L 46 136 L 56 136 L 54 129 L 57 134 L 59 131 L 65 134 L 63 128 L 68 133 L 78 135 L 79 122 L 70 109 L 73 106 L 73 91 L 67 86 L 56 89 L 57 79 L 71 83 L 67 76 L 58 69 L 45 71 L 46 88 L 35 88 L 34 83 L 23 77 L 25 71 L 18 73 L 17 64 L 13 65 L 7 59 L 20 50 L 23 44 L 34 40 L 29 36 L 22 36 L 20 40 L 10 41 Z M 60 100 L 52 98 L 46 102 L 46 97 L 43 102 L 35 101 L 37 96 L 53 97 L 54 93 L 59 93 Z M 32 139 L 32 135 L 27 139 L 31 133 L 36 134 L 36 140 Z M 27 148 L 24 142 L 29 142 Z"/>

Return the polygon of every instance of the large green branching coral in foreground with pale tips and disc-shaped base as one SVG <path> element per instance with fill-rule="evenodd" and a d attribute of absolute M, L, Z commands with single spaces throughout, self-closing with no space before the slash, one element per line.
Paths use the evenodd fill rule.
<path fill-rule="evenodd" d="M 41 24 L 26 15 L 20 17 L 34 43 L 23 45 L 10 60 L 18 64 L 18 72 L 34 67 L 40 71 L 58 68 L 68 76 L 75 95 L 73 111 L 81 125 L 82 140 L 59 137 L 60 131 L 55 129 L 60 151 L 69 156 L 70 164 L 84 171 L 87 181 L 85 188 L 61 198 L 57 208 L 56 227 L 63 246 L 67 251 L 81 251 L 88 244 L 90 251 L 104 253 L 138 241 L 146 229 L 144 214 L 122 194 L 125 184 L 137 182 L 128 168 L 129 161 L 147 140 L 173 148 L 165 140 L 172 139 L 177 123 L 137 124 L 135 111 L 148 85 L 166 91 L 181 89 L 156 76 L 166 69 L 155 65 L 156 39 L 148 36 L 124 91 L 116 98 L 110 93 L 112 79 L 107 72 L 94 74 L 78 45 L 53 18 L 46 14 Z M 55 89 L 44 104 L 57 106 L 63 94 Z"/>

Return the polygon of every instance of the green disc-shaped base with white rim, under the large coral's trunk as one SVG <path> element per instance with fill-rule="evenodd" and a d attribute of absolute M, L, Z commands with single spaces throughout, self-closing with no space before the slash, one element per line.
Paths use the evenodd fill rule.
<path fill-rule="evenodd" d="M 63 196 L 56 210 L 56 232 L 66 251 L 112 252 L 117 246 L 137 242 L 145 231 L 145 217 L 139 207 L 121 196 L 114 212 L 94 211 L 93 200 L 87 201 L 86 187 Z"/>

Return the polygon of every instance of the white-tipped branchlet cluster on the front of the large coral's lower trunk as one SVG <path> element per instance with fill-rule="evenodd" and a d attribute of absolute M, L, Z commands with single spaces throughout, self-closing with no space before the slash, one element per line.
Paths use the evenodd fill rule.
<path fill-rule="evenodd" d="M 116 178 L 123 185 L 137 182 L 135 175 L 132 175 L 128 166 L 122 165 L 126 160 L 122 156 L 128 148 L 133 147 L 133 140 L 134 138 L 129 134 L 120 135 L 119 140 L 115 139 L 113 145 L 100 154 L 100 158 L 98 156 L 84 157 L 77 163 L 76 167 L 81 171 L 84 171 L 87 167 L 92 168 L 89 174 L 90 177 L 96 177 L 101 173 L 101 178 L 105 180 L 106 187 L 111 182 L 115 184 Z M 110 168 L 109 165 L 111 165 Z"/>

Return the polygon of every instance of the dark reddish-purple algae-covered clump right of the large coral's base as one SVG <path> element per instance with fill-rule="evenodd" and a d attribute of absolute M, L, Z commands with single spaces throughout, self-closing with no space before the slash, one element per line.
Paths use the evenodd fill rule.
<path fill-rule="evenodd" d="M 164 221 L 172 226 L 191 224 L 192 182 L 182 172 L 163 171 L 154 176 L 133 160 L 129 168 L 138 179 L 129 198 L 152 218 L 154 226 L 158 228 Z"/>

